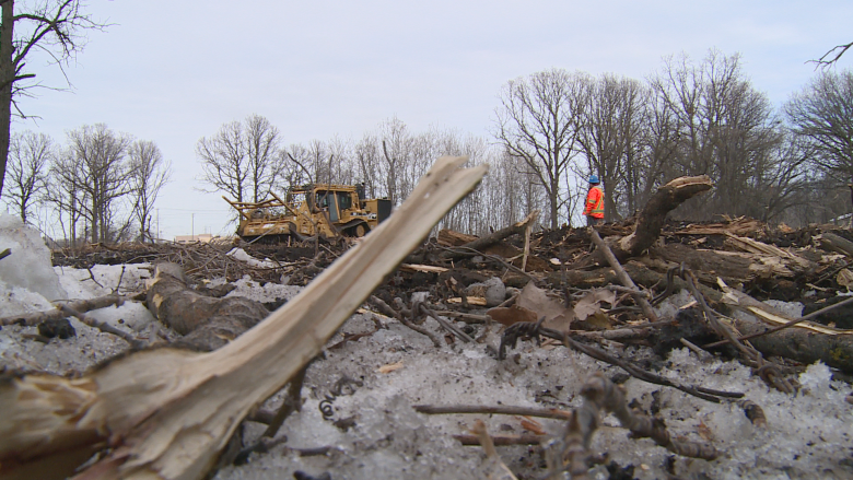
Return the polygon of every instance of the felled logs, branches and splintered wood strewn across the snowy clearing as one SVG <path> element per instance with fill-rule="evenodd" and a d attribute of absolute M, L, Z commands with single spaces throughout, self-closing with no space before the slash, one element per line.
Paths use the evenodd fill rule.
<path fill-rule="evenodd" d="M 435 348 L 476 344 L 498 331 L 500 346 L 490 353 L 499 361 L 519 355 L 513 353 L 519 340 L 564 346 L 643 382 L 710 402 L 739 401 L 756 425 L 764 422 L 761 407 L 741 399 L 743 394 L 682 384 L 647 368 L 648 361 L 633 362 L 614 350 L 645 346 L 663 358 L 686 347 L 700 356 L 736 359 L 787 395 L 798 389 L 796 374 L 815 361 L 836 368 L 839 377 L 853 375 L 853 302 L 844 295 L 853 284 L 850 231 L 793 230 L 745 218 L 666 221 L 680 202 L 711 188 L 705 177 L 688 177 L 662 187 L 642 212 L 620 223 L 537 232 L 533 212 L 483 237 L 442 230 L 412 250 L 432 225 L 419 220 L 437 221 L 482 175 L 456 171 L 460 163 L 451 159 L 435 173 L 458 184 L 458 191 L 442 190 L 446 185 L 441 183 L 419 187 L 425 192 L 422 204 L 407 202 L 364 239 L 237 245 L 255 264 L 225 244 L 135 251 L 135 259 L 160 264 L 147 304 L 182 338 L 171 349 L 143 350 L 77 379 L 7 379 L 0 385 L 0 405 L 11 413 L 0 423 L 0 473 L 63 478 L 95 453 L 79 470 L 83 478 L 202 478 L 223 463 L 245 461 L 250 453 L 270 448 L 284 419 L 299 409 L 312 358 L 324 348 L 331 351 L 374 335 L 394 320 Z M 89 268 L 103 250 L 86 255 L 62 261 Z M 222 298 L 227 289 L 214 294 L 195 285 L 201 278 L 233 281 L 245 276 L 309 285 L 271 315 L 256 302 Z M 690 292 L 693 302 L 662 315 L 656 307 L 680 290 Z M 805 308 L 792 316 L 763 302 L 768 300 L 799 301 Z M 375 329 L 326 343 L 357 307 L 373 314 Z M 66 315 L 83 319 L 85 312 L 69 308 L 65 306 Z M 429 328 L 425 319 L 439 329 Z M 385 365 L 382 373 L 400 367 Z M 174 376 L 163 376 L 164 370 Z M 277 370 L 274 377 L 253 381 L 254 372 Z M 285 385 L 278 411 L 257 409 Z M 622 390 L 603 375 L 589 377 L 581 395 L 583 406 L 571 412 L 514 413 L 569 419 L 564 432 L 550 442 L 544 441 L 544 431 L 533 438 L 505 438 L 489 434 L 480 423 L 472 435 L 458 440 L 481 444 L 499 476 L 514 478 L 495 444 L 542 443 L 547 478 L 563 478 L 564 471 L 582 478 L 598 461 L 589 440 L 599 415 L 612 412 L 632 435 L 650 437 L 674 454 L 705 460 L 717 456 L 710 442 L 685 442 L 662 422 L 631 410 Z M 51 410 L 57 408 L 61 413 Z M 447 413 L 428 406 L 419 411 Z M 267 424 L 267 431 L 260 441 L 235 447 L 244 418 Z M 22 422 L 37 422 L 38 429 L 22 437 Z M 529 430 L 536 431 L 534 423 Z M 54 464 L 57 458 L 65 463 Z"/>

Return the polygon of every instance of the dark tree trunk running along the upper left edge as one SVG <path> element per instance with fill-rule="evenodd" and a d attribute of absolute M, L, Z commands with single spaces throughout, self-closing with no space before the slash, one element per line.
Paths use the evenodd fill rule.
<path fill-rule="evenodd" d="M 14 32 L 14 0 L 2 2 L 0 25 L 0 196 L 3 194 L 5 164 L 9 160 L 9 140 L 12 136 L 12 87 L 15 66 L 12 39 Z"/>

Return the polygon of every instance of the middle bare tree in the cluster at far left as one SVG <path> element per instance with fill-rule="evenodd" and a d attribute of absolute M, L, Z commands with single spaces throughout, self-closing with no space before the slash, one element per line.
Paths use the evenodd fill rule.
<path fill-rule="evenodd" d="M 81 202 L 82 214 L 89 221 L 92 242 L 110 242 L 127 229 L 116 223 L 115 201 L 131 191 L 132 167 L 126 161 L 132 138 L 126 133 L 115 133 L 104 124 L 84 125 L 68 133 L 68 143 L 72 153 L 75 184 L 86 200 Z"/>

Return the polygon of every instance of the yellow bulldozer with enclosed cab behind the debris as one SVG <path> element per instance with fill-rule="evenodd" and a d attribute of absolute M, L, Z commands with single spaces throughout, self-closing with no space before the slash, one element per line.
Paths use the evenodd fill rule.
<path fill-rule="evenodd" d="M 361 237 L 390 215 L 388 199 L 364 199 L 363 185 L 309 184 L 291 187 L 284 200 L 273 192 L 259 202 L 232 201 L 239 212 L 237 235 L 277 242 L 340 235 Z"/>

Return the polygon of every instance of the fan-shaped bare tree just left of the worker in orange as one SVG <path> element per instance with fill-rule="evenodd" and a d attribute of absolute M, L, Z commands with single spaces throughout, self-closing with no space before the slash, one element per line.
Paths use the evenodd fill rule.
<path fill-rule="evenodd" d="M 557 229 L 568 198 L 569 165 L 577 153 L 577 134 L 589 77 L 552 69 L 510 81 L 500 94 L 498 141 L 530 167 L 548 195 L 548 220 Z"/>

